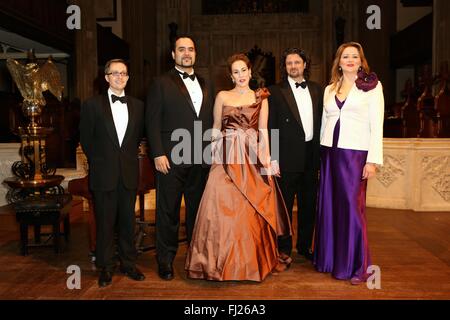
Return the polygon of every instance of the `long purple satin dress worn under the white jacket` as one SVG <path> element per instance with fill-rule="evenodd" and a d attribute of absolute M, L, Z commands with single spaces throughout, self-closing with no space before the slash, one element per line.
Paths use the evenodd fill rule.
<path fill-rule="evenodd" d="M 339 109 L 345 100 L 340 102 Z M 367 280 L 370 266 L 366 227 L 367 179 L 362 180 L 367 151 L 337 147 L 340 120 L 333 146 L 321 146 L 318 213 L 314 239 L 314 265 L 337 279 Z"/>

